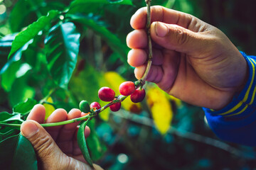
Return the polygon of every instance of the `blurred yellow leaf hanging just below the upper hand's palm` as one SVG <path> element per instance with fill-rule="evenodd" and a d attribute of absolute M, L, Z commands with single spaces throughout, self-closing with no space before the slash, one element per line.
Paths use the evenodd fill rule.
<path fill-rule="evenodd" d="M 156 129 L 164 135 L 170 128 L 173 112 L 168 96 L 157 86 L 148 86 L 146 89 L 146 102 L 151 109 Z"/>

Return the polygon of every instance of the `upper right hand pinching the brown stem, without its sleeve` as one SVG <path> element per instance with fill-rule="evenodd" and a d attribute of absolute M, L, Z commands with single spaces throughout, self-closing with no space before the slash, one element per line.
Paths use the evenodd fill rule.
<path fill-rule="evenodd" d="M 146 8 L 131 18 L 128 63 L 137 79 L 146 69 Z M 151 6 L 153 60 L 147 81 L 196 106 L 226 106 L 247 79 L 247 63 L 218 28 L 186 13 Z"/>

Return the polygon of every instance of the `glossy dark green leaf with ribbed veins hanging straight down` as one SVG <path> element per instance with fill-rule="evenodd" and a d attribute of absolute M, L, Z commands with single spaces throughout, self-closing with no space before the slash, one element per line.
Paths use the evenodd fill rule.
<path fill-rule="evenodd" d="M 46 37 L 48 69 L 55 82 L 67 88 L 75 69 L 80 46 L 80 33 L 74 23 L 63 23 L 50 29 Z"/>

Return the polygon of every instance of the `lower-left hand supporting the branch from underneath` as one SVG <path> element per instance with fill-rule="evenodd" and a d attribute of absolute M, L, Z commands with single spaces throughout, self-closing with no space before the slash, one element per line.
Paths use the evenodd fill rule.
<path fill-rule="evenodd" d="M 29 113 L 27 120 L 21 125 L 21 134 L 33 145 L 40 169 L 91 169 L 78 147 L 78 124 L 46 128 L 39 123 L 55 123 L 79 118 L 81 111 L 73 109 L 67 113 L 64 109 L 55 110 L 44 122 L 46 109 L 36 105 Z M 90 135 L 90 128 L 85 128 L 85 136 Z M 101 169 L 94 164 L 95 169 Z"/>

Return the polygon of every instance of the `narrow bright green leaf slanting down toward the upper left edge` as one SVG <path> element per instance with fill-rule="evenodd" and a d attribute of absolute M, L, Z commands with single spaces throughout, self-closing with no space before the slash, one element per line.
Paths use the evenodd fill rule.
<path fill-rule="evenodd" d="M 11 52 L 9 53 L 8 58 L 16 52 L 19 48 L 26 44 L 29 40 L 34 38 L 40 30 L 46 28 L 46 26 L 52 21 L 56 16 L 58 16 L 58 11 L 50 11 L 47 16 L 42 16 L 38 21 L 32 23 L 26 28 L 26 30 L 21 31 L 16 35 L 14 42 L 11 45 Z"/>

